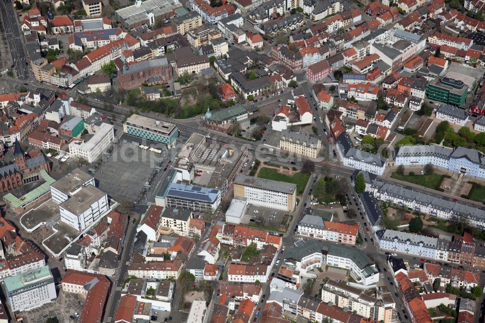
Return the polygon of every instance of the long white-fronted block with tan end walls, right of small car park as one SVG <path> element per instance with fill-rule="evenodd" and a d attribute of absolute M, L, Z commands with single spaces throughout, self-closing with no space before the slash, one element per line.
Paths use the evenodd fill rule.
<path fill-rule="evenodd" d="M 292 211 L 296 205 L 296 185 L 238 175 L 234 197 L 245 197 L 248 203 L 265 208 Z"/>

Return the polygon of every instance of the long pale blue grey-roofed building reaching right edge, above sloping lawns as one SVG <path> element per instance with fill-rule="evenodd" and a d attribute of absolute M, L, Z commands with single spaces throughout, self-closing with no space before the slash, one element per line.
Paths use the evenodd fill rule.
<path fill-rule="evenodd" d="M 485 156 L 478 150 L 437 145 L 402 146 L 396 154 L 396 165 L 432 164 L 455 173 L 485 178 Z"/>

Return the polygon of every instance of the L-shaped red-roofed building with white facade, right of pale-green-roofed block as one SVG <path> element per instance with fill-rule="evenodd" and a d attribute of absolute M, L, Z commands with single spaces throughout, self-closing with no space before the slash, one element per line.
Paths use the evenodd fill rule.
<path fill-rule="evenodd" d="M 67 270 L 61 281 L 63 291 L 86 295 L 81 323 L 100 323 L 104 304 L 108 296 L 110 281 L 104 275 L 96 275 L 75 270 Z"/>

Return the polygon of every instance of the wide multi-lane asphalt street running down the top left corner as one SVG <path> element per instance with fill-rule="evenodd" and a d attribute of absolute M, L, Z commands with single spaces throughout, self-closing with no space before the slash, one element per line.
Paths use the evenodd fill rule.
<path fill-rule="evenodd" d="M 7 36 L 8 45 L 14 62 L 14 72 L 16 77 L 22 80 L 29 78 L 29 66 L 26 65 L 27 57 L 22 46 L 22 38 L 17 25 L 16 10 L 12 2 L 0 1 L 0 12 L 3 29 Z"/>

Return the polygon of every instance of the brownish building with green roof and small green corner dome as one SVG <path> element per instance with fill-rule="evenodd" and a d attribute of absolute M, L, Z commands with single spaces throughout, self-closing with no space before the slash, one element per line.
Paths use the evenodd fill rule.
<path fill-rule="evenodd" d="M 207 128 L 224 133 L 227 133 L 235 123 L 239 123 L 241 129 L 249 128 L 249 113 L 239 103 L 214 112 L 208 108 L 204 116 L 204 125 Z"/>

